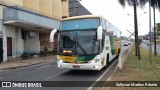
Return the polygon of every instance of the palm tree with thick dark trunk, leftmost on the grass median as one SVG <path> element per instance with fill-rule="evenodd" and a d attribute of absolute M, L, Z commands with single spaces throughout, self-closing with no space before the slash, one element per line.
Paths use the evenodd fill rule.
<path fill-rule="evenodd" d="M 134 7 L 135 55 L 136 56 L 138 55 L 138 59 L 140 60 L 141 57 L 140 57 L 140 48 L 139 48 L 139 42 L 138 42 L 137 6 L 143 7 L 147 2 L 150 2 L 153 8 L 160 9 L 160 0 L 118 0 L 118 1 L 123 7 L 125 7 L 126 3 L 130 6 L 133 5 Z"/>

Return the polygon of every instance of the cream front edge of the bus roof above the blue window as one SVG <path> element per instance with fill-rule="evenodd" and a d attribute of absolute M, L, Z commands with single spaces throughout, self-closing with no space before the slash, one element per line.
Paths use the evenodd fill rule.
<path fill-rule="evenodd" d="M 74 20 L 74 19 L 83 19 L 83 18 L 102 18 L 102 16 L 97 16 L 97 15 L 74 16 L 74 17 L 68 17 L 68 18 L 62 19 L 62 21 Z"/>

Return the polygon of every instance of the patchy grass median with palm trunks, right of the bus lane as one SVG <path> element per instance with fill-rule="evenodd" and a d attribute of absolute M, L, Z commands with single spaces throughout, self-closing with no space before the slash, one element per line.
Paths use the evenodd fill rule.
<path fill-rule="evenodd" d="M 117 70 L 111 81 L 160 81 L 160 55 L 152 56 L 149 62 L 149 52 L 141 48 L 141 60 L 135 57 L 134 48 L 126 59 L 123 70 Z M 122 88 L 111 88 L 117 90 Z M 122 90 L 160 90 L 159 87 L 130 87 Z"/>

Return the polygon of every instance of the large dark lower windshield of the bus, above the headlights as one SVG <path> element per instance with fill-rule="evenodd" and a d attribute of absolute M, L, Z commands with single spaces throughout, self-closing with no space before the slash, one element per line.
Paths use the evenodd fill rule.
<path fill-rule="evenodd" d="M 59 54 L 89 55 L 98 54 L 99 44 L 96 30 L 60 32 Z M 65 53 L 64 50 L 70 50 Z"/>

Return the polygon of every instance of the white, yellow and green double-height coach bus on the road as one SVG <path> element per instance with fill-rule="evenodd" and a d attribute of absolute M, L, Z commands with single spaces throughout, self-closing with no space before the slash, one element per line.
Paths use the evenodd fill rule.
<path fill-rule="evenodd" d="M 51 31 L 50 42 L 54 42 L 55 33 L 59 68 L 101 70 L 121 51 L 121 31 L 101 16 L 63 19 L 60 29 Z"/>

